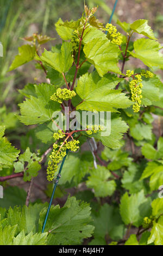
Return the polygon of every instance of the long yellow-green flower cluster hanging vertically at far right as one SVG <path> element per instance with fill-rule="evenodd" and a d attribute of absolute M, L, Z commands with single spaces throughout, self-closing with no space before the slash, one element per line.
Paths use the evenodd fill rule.
<path fill-rule="evenodd" d="M 141 107 L 141 99 L 142 99 L 142 90 L 141 88 L 143 87 L 142 83 L 141 83 L 142 79 L 141 79 L 141 75 L 136 75 L 134 80 L 131 80 L 129 82 L 129 87 L 131 90 L 131 100 L 136 102 L 133 105 L 133 111 L 134 112 L 139 112 L 140 107 Z"/>

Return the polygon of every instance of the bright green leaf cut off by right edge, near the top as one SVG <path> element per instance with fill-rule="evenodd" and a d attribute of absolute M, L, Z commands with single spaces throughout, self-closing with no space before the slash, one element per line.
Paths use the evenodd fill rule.
<path fill-rule="evenodd" d="M 163 58 L 162 54 L 159 52 L 161 45 L 159 42 L 141 38 L 134 42 L 134 52 L 129 53 L 134 57 L 140 59 L 145 65 L 152 68 L 153 66 L 158 66 L 163 68 Z"/>

